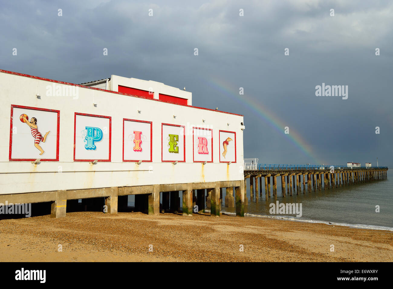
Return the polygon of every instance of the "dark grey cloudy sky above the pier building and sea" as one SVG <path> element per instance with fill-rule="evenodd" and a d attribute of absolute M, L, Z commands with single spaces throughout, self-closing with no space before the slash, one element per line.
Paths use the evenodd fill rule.
<path fill-rule="evenodd" d="M 185 86 L 195 106 L 244 114 L 244 156 L 260 163 L 375 165 L 378 157 L 393 165 L 392 2 L 9 1 L 0 8 L 1 69 L 73 83 L 115 74 Z M 323 82 L 348 85 L 348 99 L 316 97 Z"/>

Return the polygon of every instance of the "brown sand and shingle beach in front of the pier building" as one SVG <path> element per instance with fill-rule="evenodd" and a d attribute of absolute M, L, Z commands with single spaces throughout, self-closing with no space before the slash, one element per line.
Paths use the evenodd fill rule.
<path fill-rule="evenodd" d="M 1 262 L 393 261 L 393 232 L 268 218 L 72 212 L 0 220 L 0 232 Z"/>

